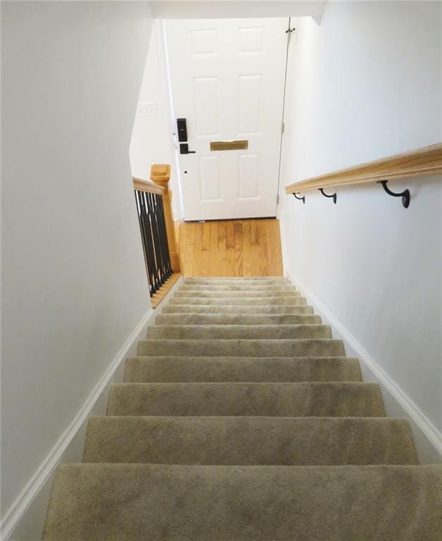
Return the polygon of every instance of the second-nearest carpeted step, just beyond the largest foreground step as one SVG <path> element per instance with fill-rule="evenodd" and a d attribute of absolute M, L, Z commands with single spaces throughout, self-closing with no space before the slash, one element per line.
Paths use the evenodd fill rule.
<path fill-rule="evenodd" d="M 417 464 L 408 421 L 348 417 L 93 417 L 83 461 Z"/>

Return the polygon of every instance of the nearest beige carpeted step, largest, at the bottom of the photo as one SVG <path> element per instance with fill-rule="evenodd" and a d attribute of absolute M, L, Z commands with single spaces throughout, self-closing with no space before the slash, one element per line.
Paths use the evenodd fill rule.
<path fill-rule="evenodd" d="M 440 466 L 62 464 L 44 541 L 439 541 Z"/>

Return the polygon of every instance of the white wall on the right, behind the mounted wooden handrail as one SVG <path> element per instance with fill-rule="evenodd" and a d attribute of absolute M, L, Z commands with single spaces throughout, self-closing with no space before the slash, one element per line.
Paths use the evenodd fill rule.
<path fill-rule="evenodd" d="M 328 3 L 291 43 L 284 185 L 442 142 L 442 4 Z M 441 437 L 442 178 L 282 192 L 286 271 Z M 362 351 L 361 349 L 361 351 Z M 441 443 L 441 440 L 438 440 Z"/>

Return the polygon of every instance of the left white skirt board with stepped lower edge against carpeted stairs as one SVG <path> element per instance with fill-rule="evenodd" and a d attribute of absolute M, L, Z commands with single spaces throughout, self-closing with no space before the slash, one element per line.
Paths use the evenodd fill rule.
<path fill-rule="evenodd" d="M 89 416 L 106 415 L 110 385 L 123 381 L 126 357 L 136 355 L 138 340 L 146 337 L 147 327 L 155 324 L 155 318 L 163 310 L 165 301 L 175 292 L 181 281 L 182 277 L 171 287 L 160 306 L 155 310 L 149 309 L 132 330 L 80 411 L 8 509 L 1 523 L 2 541 L 39 541 L 42 538 L 53 476 L 58 463 L 82 461 Z"/>

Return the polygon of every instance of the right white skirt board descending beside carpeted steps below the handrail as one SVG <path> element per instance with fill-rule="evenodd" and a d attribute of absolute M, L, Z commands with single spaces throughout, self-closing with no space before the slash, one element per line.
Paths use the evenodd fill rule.
<path fill-rule="evenodd" d="M 307 298 L 308 304 L 313 306 L 315 313 L 322 316 L 323 323 L 331 326 L 334 338 L 341 339 L 348 356 L 360 359 L 362 378 L 367 381 L 379 383 L 386 414 L 393 417 L 406 417 L 410 421 L 412 435 L 415 440 L 417 456 L 421 464 L 434 464 L 441 461 L 442 457 L 442 434 L 424 415 L 415 402 L 405 394 L 391 377 L 372 359 L 370 354 L 356 340 L 346 327 L 337 320 L 331 311 L 320 299 L 317 299 L 308 287 L 295 276 L 286 272 L 286 277 L 296 285 Z"/>

